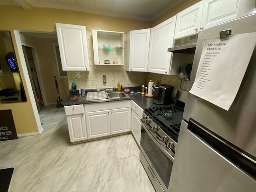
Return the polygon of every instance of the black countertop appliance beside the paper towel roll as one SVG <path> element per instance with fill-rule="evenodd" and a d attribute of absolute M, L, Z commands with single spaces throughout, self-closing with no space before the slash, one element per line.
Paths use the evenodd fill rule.
<path fill-rule="evenodd" d="M 173 103 L 172 93 L 174 86 L 172 85 L 156 85 L 153 86 L 153 103 L 157 105 L 169 105 Z"/>

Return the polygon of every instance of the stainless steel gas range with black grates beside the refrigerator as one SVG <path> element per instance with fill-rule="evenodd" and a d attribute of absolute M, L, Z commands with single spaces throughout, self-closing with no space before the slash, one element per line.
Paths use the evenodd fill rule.
<path fill-rule="evenodd" d="M 170 187 L 186 94 L 178 90 L 175 105 L 148 108 L 142 115 L 140 161 L 157 192 L 167 192 Z M 172 111 L 171 118 L 164 119 L 163 112 L 169 111 Z"/>

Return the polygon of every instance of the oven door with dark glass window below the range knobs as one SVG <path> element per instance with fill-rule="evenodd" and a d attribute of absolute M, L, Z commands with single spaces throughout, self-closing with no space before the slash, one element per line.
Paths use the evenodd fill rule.
<path fill-rule="evenodd" d="M 152 131 L 151 127 L 145 122 L 142 122 L 140 139 L 142 154 L 152 168 L 164 191 L 168 191 L 174 162 L 174 153 L 170 155 L 166 152 L 160 136 Z M 146 167 L 146 165 L 144 165 L 144 167 Z"/>

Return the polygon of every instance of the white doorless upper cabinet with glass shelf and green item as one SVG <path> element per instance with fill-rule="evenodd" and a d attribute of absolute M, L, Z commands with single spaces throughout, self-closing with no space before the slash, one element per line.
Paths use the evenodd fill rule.
<path fill-rule="evenodd" d="M 92 30 L 95 65 L 124 65 L 124 32 Z"/>

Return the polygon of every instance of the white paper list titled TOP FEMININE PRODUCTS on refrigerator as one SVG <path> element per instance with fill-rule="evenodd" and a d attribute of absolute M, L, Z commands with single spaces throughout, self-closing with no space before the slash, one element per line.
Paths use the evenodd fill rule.
<path fill-rule="evenodd" d="M 232 35 L 224 40 L 204 40 L 204 48 L 190 93 L 229 110 L 255 44 L 255 32 Z"/>

